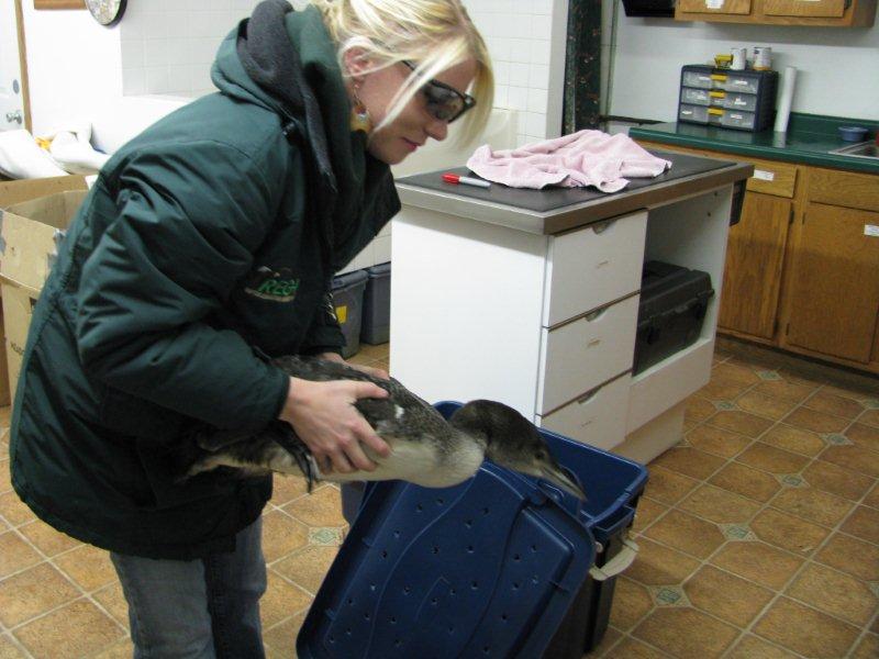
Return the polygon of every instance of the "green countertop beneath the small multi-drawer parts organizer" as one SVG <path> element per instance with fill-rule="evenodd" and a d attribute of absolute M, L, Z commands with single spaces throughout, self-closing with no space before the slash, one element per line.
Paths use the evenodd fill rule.
<path fill-rule="evenodd" d="M 661 144 L 742 154 L 768 160 L 786 160 L 879 175 L 879 160 L 827 153 L 853 144 L 843 142 L 836 130 L 838 126 L 850 125 L 869 129 L 870 138 L 875 137 L 879 131 L 879 121 L 792 112 L 787 133 L 775 133 L 771 130 L 748 133 L 716 126 L 671 122 L 633 127 L 630 129 L 628 135 L 633 139 L 649 139 Z"/>

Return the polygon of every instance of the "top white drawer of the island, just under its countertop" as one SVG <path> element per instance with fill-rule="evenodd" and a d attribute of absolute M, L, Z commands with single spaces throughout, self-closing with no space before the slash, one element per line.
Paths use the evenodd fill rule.
<path fill-rule="evenodd" d="M 599 309 L 641 288 L 647 212 L 590 224 L 549 242 L 543 325 Z"/>

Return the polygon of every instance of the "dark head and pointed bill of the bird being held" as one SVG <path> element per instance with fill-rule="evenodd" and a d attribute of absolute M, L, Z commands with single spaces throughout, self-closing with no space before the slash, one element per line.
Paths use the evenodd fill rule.
<path fill-rule="evenodd" d="M 455 427 L 486 443 L 486 457 L 501 467 L 545 479 L 586 500 L 579 484 L 559 466 L 541 433 L 519 412 L 494 401 L 471 401 L 449 418 Z"/>

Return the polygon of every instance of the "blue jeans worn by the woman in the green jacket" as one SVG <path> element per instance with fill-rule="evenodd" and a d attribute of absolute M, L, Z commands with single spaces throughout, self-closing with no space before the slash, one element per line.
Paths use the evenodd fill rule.
<path fill-rule="evenodd" d="M 110 554 L 129 603 L 135 659 L 264 659 L 263 518 L 235 551 L 197 560 Z"/>

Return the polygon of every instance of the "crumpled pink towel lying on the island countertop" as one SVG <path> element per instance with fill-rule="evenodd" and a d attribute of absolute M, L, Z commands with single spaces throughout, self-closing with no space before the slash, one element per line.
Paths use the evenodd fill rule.
<path fill-rule="evenodd" d="M 512 188 L 594 186 L 616 192 L 628 185 L 625 177 L 659 176 L 671 163 L 644 150 L 628 135 L 579 131 L 515 149 L 492 152 L 486 144 L 474 152 L 467 167 Z"/>

